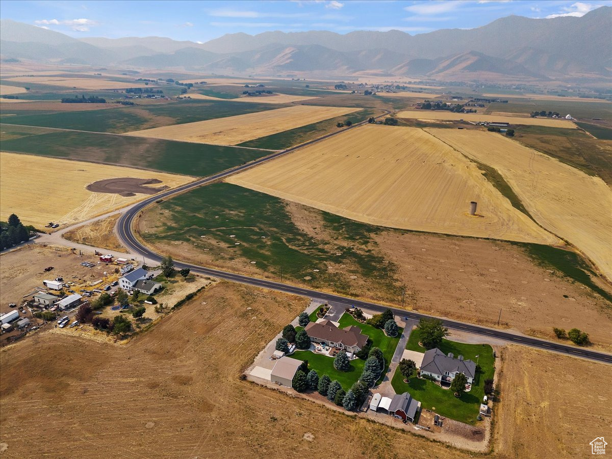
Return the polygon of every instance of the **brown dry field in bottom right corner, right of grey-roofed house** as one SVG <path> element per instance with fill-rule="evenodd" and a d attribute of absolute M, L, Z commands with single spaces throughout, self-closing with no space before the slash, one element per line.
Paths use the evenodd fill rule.
<path fill-rule="evenodd" d="M 501 371 L 493 406 L 501 457 L 591 457 L 589 442 L 609 435 L 611 365 L 507 346 Z"/>

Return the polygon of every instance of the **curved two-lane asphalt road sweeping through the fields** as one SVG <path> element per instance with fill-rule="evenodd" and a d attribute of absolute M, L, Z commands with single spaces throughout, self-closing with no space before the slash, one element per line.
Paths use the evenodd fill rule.
<path fill-rule="evenodd" d="M 389 112 L 381 116 L 386 116 L 387 114 L 389 114 Z M 134 219 L 136 218 L 136 216 L 144 209 L 144 207 L 148 206 L 149 204 L 154 203 L 157 200 L 168 198 L 170 196 L 177 195 L 178 193 L 183 193 L 188 190 L 192 190 L 194 188 L 201 187 L 202 185 L 211 184 L 212 182 L 218 181 L 219 179 L 222 179 L 223 177 L 230 176 L 231 174 L 235 174 L 239 171 L 242 171 L 248 168 L 252 168 L 253 166 L 259 165 L 261 163 L 275 159 L 282 155 L 288 154 L 289 152 L 292 152 L 298 148 L 319 142 L 331 136 L 337 135 L 340 132 L 344 132 L 345 130 L 353 129 L 359 125 L 365 124 L 366 122 L 367 121 L 363 121 L 363 122 L 354 124 L 353 126 L 347 129 L 343 129 L 338 132 L 324 135 L 315 140 L 308 141 L 304 144 L 300 144 L 298 146 L 291 147 L 289 149 L 274 153 L 272 155 L 268 155 L 266 157 L 260 158 L 258 160 L 255 160 L 253 162 L 250 162 L 250 163 L 247 163 L 241 166 L 236 166 L 229 170 L 222 171 L 220 173 L 214 174 L 212 176 L 206 177 L 196 182 L 192 182 L 190 184 L 182 185 L 181 187 L 174 188 L 173 190 L 170 190 L 167 192 L 159 193 L 155 196 L 152 196 L 151 198 L 141 201 L 140 203 L 136 204 L 131 209 L 129 209 L 127 212 L 125 212 L 123 215 L 121 215 L 121 218 L 119 218 L 117 222 L 117 231 L 118 231 L 119 238 L 125 244 L 125 247 L 129 248 L 129 250 L 131 250 L 133 253 L 141 255 L 141 256 L 146 256 L 149 259 L 159 262 L 162 260 L 162 256 L 160 256 L 159 254 L 155 252 L 152 252 L 151 250 L 149 250 L 149 248 L 142 245 L 132 233 L 132 223 Z M 284 293 L 291 293 L 291 294 L 296 294 L 300 296 L 321 299 L 324 301 L 333 301 L 333 302 L 337 302 L 337 303 L 346 305 L 346 307 L 356 306 L 359 308 L 365 308 L 365 309 L 369 309 L 369 310 L 373 310 L 377 312 L 383 312 L 383 310 L 387 308 L 387 306 L 382 306 L 382 305 L 378 305 L 375 303 L 351 299 L 351 298 L 338 296 L 338 295 L 334 295 L 330 293 L 324 293 L 324 292 L 320 292 L 316 290 L 288 285 L 285 283 L 274 282 L 271 280 L 264 280 L 264 279 L 259 279 L 256 277 L 248 277 L 245 275 L 234 274 L 231 272 L 218 271 L 217 269 L 210 269 L 210 268 L 198 266 L 195 264 L 181 263 L 181 262 L 175 261 L 174 266 L 176 266 L 178 269 L 189 268 L 192 272 L 229 280 L 231 282 L 239 282 L 239 283 L 253 285 L 253 286 L 257 286 L 261 288 L 269 288 L 269 289 L 281 291 Z M 419 320 L 422 318 L 432 317 L 432 316 L 427 316 L 427 315 L 419 314 L 415 312 L 409 312 L 403 309 L 397 309 L 397 308 L 391 308 L 391 309 L 393 310 L 395 315 L 405 317 L 407 319 Z M 555 352 L 562 353 L 562 354 L 568 354 L 570 356 L 583 357 L 584 359 L 590 359 L 590 360 L 595 360 L 597 362 L 612 364 L 612 355 L 610 354 L 600 353 L 597 351 L 592 351 L 590 349 L 575 348 L 573 346 L 565 346 L 561 343 L 554 343 L 553 341 L 539 340 L 537 338 L 515 335 L 512 333 L 504 332 L 504 331 L 497 330 L 497 329 L 491 329 L 487 327 L 466 324 L 463 322 L 452 321 L 449 319 L 441 319 L 441 320 L 442 320 L 442 323 L 444 323 L 444 326 L 449 327 L 449 329 L 461 330 L 461 331 L 469 332 L 472 334 L 488 336 L 491 338 L 497 338 L 499 340 L 504 340 L 509 343 L 531 346 L 534 348 L 545 349 L 548 351 L 555 351 Z"/>

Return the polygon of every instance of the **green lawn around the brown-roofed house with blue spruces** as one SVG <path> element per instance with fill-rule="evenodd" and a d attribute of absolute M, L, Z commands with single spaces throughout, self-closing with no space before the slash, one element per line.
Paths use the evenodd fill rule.
<path fill-rule="evenodd" d="M 313 320 L 312 315 L 315 315 L 315 320 Z M 312 315 L 310 320 L 316 322 L 316 310 L 312 313 Z M 381 351 L 383 351 L 386 366 L 376 383 L 379 384 L 384 378 L 386 370 L 389 367 L 389 362 L 391 361 L 395 348 L 397 347 L 397 343 L 400 340 L 402 329 L 398 329 L 397 337 L 390 338 L 384 334 L 383 330 L 377 329 L 368 324 L 359 323 L 353 318 L 353 316 L 346 313 L 341 316 L 339 324 L 340 328 L 345 328 L 351 325 L 359 327 L 365 335 L 370 337 L 372 347 L 380 348 Z M 299 329 L 301 329 L 301 327 L 296 327 L 296 330 Z M 291 354 L 291 357 L 293 359 L 302 360 L 302 362 L 304 360 L 308 360 L 308 368 L 310 370 L 315 370 L 317 375 L 319 375 L 319 378 L 321 378 L 323 375 L 327 375 L 332 379 L 332 381 L 337 379 L 338 383 L 341 384 L 344 390 L 349 390 L 351 386 L 353 386 L 353 384 L 359 380 L 361 373 L 364 371 L 365 365 L 365 360 L 353 359 L 351 360 L 351 367 L 348 371 L 339 371 L 334 368 L 334 359 L 332 359 L 332 357 L 324 356 L 323 354 L 315 354 L 310 351 L 296 351 Z"/>

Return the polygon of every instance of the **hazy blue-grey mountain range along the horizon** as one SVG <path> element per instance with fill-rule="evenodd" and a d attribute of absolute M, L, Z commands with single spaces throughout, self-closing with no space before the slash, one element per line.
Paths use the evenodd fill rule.
<path fill-rule="evenodd" d="M 75 39 L 0 21 L 2 59 L 125 69 L 184 69 L 277 75 L 417 76 L 435 80 L 606 79 L 612 68 L 612 7 L 583 17 L 509 16 L 476 29 L 264 32 L 226 34 L 206 43 L 163 37 Z"/>

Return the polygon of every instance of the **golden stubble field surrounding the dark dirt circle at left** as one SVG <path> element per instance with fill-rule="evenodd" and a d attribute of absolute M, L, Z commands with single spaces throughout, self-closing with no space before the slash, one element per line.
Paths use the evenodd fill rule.
<path fill-rule="evenodd" d="M 174 188 L 192 180 L 175 174 L 6 152 L 0 153 L 0 169 L 0 218 L 6 221 L 10 214 L 17 214 L 24 223 L 37 228 L 48 222 L 82 222 L 149 196 L 120 196 L 86 189 L 97 181 L 121 177 L 157 179 L 161 183 L 152 187 Z"/>

